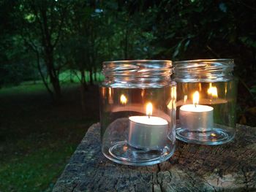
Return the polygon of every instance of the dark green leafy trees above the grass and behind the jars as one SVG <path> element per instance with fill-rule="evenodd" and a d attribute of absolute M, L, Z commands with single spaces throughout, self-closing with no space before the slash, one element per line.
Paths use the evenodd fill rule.
<path fill-rule="evenodd" d="M 255 1 L 19 0 L 1 10 L 0 85 L 50 77 L 56 95 L 62 70 L 86 86 L 102 61 L 234 58 L 239 104 L 255 107 Z"/>

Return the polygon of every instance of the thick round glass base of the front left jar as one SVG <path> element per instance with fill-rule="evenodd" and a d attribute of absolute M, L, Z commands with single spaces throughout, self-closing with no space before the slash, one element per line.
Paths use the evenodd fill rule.
<path fill-rule="evenodd" d="M 127 141 L 116 142 L 109 150 L 102 150 L 106 158 L 118 164 L 146 166 L 166 161 L 175 147 L 165 146 L 162 150 L 144 150 L 128 145 Z"/>

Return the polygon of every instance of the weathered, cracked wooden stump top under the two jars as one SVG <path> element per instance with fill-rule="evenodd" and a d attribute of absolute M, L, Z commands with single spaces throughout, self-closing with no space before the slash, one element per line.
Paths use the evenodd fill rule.
<path fill-rule="evenodd" d="M 125 166 L 102 155 L 99 123 L 87 131 L 53 191 L 256 191 L 256 127 L 237 125 L 233 142 L 176 142 L 154 166 Z"/>

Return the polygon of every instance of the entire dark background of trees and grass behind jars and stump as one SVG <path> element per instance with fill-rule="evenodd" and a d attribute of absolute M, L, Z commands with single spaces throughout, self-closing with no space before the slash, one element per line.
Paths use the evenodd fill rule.
<path fill-rule="evenodd" d="M 0 191 L 51 191 L 99 121 L 102 61 L 234 58 L 256 125 L 256 1 L 0 1 Z"/>

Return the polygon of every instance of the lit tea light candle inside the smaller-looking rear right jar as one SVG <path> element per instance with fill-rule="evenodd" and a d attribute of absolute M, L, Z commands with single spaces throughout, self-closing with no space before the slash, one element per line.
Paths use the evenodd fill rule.
<path fill-rule="evenodd" d="M 214 108 L 198 102 L 199 93 L 195 91 L 193 104 L 181 106 L 179 111 L 181 127 L 189 131 L 210 131 L 214 126 Z"/>

